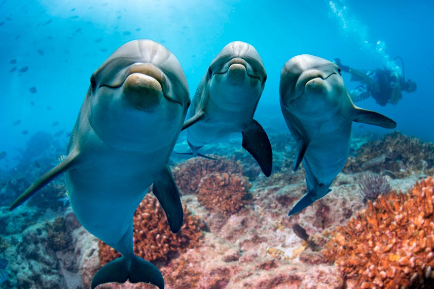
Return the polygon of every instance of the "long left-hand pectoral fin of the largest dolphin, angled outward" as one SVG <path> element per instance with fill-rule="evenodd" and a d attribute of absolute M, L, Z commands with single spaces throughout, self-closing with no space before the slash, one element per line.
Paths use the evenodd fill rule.
<path fill-rule="evenodd" d="M 68 156 L 57 166 L 42 175 L 37 181 L 35 181 L 24 193 L 21 194 L 9 207 L 9 212 L 16 209 L 28 199 L 30 199 L 38 190 L 46 186 L 50 181 L 53 181 L 63 173 L 71 170 L 76 163 L 76 157 L 78 152 L 73 149 Z"/>

